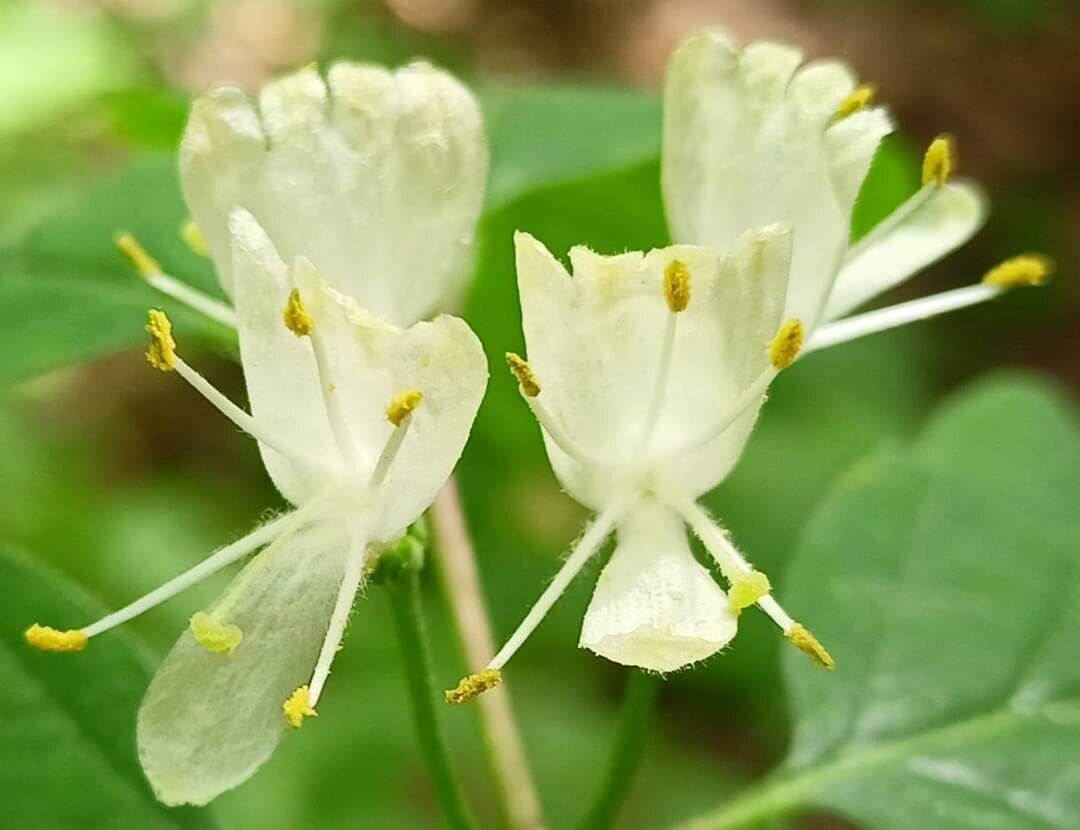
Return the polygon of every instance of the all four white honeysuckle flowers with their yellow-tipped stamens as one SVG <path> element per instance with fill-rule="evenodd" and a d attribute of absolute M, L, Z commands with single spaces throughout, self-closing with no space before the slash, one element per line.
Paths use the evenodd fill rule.
<path fill-rule="evenodd" d="M 566 563 L 487 669 L 490 688 L 581 567 L 618 544 L 581 644 L 671 671 L 731 641 L 757 604 L 819 663 L 832 657 L 772 598 L 696 500 L 732 468 L 770 382 L 802 353 L 1039 283 L 1039 257 L 980 285 L 847 316 L 962 244 L 983 200 L 950 179 L 937 139 L 922 188 L 849 245 L 854 200 L 887 112 L 835 62 L 717 31 L 674 55 L 664 94 L 664 198 L 679 244 L 570 251 L 572 276 L 515 237 L 528 362 L 508 355 L 563 487 L 596 512 Z M 122 246 L 157 287 L 235 325 L 251 413 L 178 354 L 150 312 L 147 357 L 175 371 L 259 445 L 295 506 L 131 606 L 83 628 L 40 625 L 33 645 L 79 651 L 189 585 L 260 550 L 216 606 L 191 617 L 150 684 L 138 749 L 159 798 L 205 803 L 265 762 L 286 725 L 315 715 L 365 573 L 450 475 L 484 395 L 468 325 L 419 322 L 461 289 L 487 150 L 480 111 L 428 65 L 339 64 L 197 101 L 180 172 L 231 304 Z M 693 558 L 686 526 L 729 584 Z"/>

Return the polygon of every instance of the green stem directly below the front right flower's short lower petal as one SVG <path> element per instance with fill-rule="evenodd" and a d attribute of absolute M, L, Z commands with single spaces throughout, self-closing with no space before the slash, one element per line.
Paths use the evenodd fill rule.
<path fill-rule="evenodd" d="M 636 669 L 630 672 L 611 756 L 600 791 L 581 822 L 582 830 L 615 827 L 619 811 L 634 784 L 634 774 L 645 756 L 660 684 L 660 678 Z"/>

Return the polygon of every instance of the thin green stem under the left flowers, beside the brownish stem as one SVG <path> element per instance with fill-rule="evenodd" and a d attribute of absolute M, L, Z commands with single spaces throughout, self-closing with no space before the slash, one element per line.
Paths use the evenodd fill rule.
<path fill-rule="evenodd" d="M 453 830 L 475 830 L 476 819 L 461 790 L 450 761 L 446 737 L 435 716 L 435 685 L 431 677 L 431 655 L 428 652 L 423 611 L 420 607 L 419 580 L 419 573 L 409 568 L 387 586 L 405 664 L 413 722 L 416 724 L 420 752 L 428 765 L 447 826 Z"/>

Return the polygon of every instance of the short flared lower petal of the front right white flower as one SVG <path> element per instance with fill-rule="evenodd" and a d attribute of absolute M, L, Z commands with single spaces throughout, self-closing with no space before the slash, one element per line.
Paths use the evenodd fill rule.
<path fill-rule="evenodd" d="M 583 648 L 624 666 L 675 671 L 731 641 L 738 618 L 675 513 L 643 504 L 618 533 L 585 612 Z"/>

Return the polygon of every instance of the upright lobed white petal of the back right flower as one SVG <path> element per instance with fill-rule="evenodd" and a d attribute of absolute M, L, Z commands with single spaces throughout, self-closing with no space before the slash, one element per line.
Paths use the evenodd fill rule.
<path fill-rule="evenodd" d="M 892 128 L 881 109 L 834 122 L 854 87 L 797 51 L 738 50 L 718 30 L 672 56 L 664 89 L 663 189 L 677 242 L 724 247 L 770 222 L 794 229 L 787 316 L 812 328 L 848 242 L 851 210 L 874 152 Z"/>

